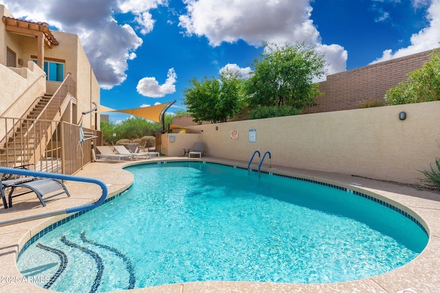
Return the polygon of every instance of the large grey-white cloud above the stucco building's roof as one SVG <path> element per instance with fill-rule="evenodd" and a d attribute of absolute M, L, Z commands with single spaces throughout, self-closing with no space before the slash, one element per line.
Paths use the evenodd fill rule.
<path fill-rule="evenodd" d="M 45 21 L 63 32 L 77 34 L 102 89 L 112 89 L 126 80 L 128 60 L 142 45 L 141 34 L 153 30 L 150 10 L 168 5 L 167 0 L 0 0 L 17 18 Z M 115 21 L 127 14 L 132 27 Z"/>

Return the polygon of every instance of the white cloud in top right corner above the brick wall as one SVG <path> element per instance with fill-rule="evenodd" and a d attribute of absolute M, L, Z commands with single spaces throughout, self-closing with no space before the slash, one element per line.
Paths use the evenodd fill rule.
<path fill-rule="evenodd" d="M 415 1 L 415 5 L 421 5 L 425 1 Z M 393 50 L 386 49 L 382 53 L 382 57 L 377 58 L 371 64 L 416 54 L 422 51 L 439 47 L 440 41 L 440 0 L 432 0 L 428 8 L 426 19 L 429 22 L 428 27 L 424 27 L 417 34 L 412 34 L 410 41 L 411 45 L 398 49 L 393 53 Z"/>

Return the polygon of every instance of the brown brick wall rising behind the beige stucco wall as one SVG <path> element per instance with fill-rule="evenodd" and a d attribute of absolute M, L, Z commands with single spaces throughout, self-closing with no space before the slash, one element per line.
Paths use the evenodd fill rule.
<path fill-rule="evenodd" d="M 367 102 L 385 102 L 386 91 L 406 80 L 407 73 L 429 62 L 430 53 L 432 50 L 327 75 L 327 80 L 319 83 L 324 95 L 315 99 L 316 106 L 305 108 L 303 113 L 351 110 Z"/>

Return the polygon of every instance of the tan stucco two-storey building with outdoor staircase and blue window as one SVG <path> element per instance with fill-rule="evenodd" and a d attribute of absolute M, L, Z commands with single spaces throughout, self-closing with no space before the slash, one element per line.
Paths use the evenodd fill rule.
<path fill-rule="evenodd" d="M 100 86 L 85 51 L 77 35 L 15 19 L 4 5 L 0 18 L 0 163 L 65 162 L 69 155 L 61 143 L 78 143 L 79 124 L 97 130 L 100 123 L 96 111 L 83 115 L 100 104 Z M 67 130 L 48 122 L 36 127 L 34 121 L 77 127 Z"/>

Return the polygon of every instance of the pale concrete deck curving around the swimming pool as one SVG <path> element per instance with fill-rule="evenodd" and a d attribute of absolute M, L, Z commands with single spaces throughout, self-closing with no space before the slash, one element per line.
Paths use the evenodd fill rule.
<path fill-rule="evenodd" d="M 104 162 L 98 160 L 90 163 L 77 176 L 97 178 L 107 184 L 108 197 L 120 194 L 133 183 L 133 175 L 122 169 L 129 165 L 149 163 L 153 161 L 182 161 L 186 157 L 161 157 L 160 159 L 140 159 L 139 161 Z M 224 163 L 246 168 L 247 162 L 228 161 L 212 157 L 200 159 L 191 158 L 190 161 L 208 161 Z M 253 164 L 252 167 L 255 168 Z M 440 194 L 428 191 L 419 191 L 410 187 L 384 183 L 378 180 L 355 177 L 346 174 L 316 172 L 304 169 L 293 169 L 272 166 L 262 167 L 263 172 L 280 173 L 302 177 L 347 187 L 353 191 L 360 191 L 369 196 L 375 196 L 395 207 L 406 211 L 419 220 L 429 234 L 429 242 L 423 252 L 414 260 L 401 268 L 375 277 L 344 283 L 329 284 L 296 284 L 296 283 L 258 283 L 258 282 L 221 282 L 206 281 L 193 283 L 177 283 L 162 285 L 153 288 L 123 290 L 117 292 L 410 292 L 437 293 L 440 292 Z M 263 176 L 263 174 L 262 174 Z M 30 215 L 58 211 L 67 207 L 75 207 L 98 200 L 101 196 L 100 187 L 89 183 L 68 181 L 70 198 L 58 196 L 47 200 L 47 207 L 42 207 L 34 194 L 20 196 L 14 199 L 11 209 L 0 208 L 0 222 Z M 58 222 L 67 215 L 58 215 L 52 218 L 32 220 L 9 226 L 0 227 L 0 292 L 48 292 L 23 278 L 17 268 L 17 256 L 28 240 L 42 231 L 45 227 Z M 78 280 L 80 281 L 80 280 Z"/>

